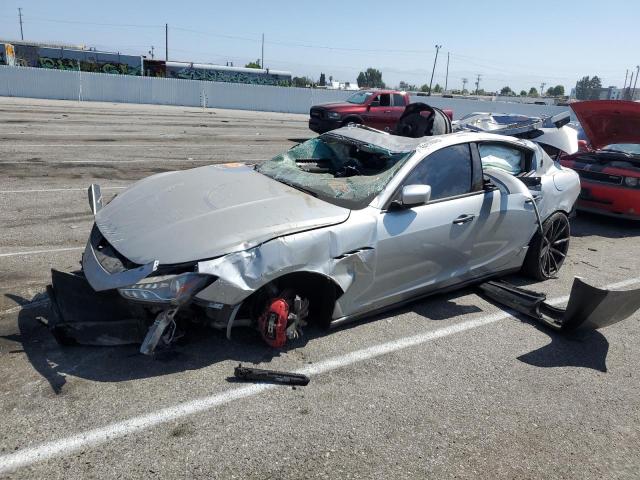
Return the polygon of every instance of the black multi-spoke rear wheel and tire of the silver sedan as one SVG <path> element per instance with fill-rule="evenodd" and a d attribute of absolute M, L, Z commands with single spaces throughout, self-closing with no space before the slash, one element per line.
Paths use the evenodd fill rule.
<path fill-rule="evenodd" d="M 531 239 L 529 251 L 522 265 L 522 273 L 536 280 L 555 278 L 569 250 L 571 228 L 563 212 L 556 212 L 542 224 L 540 232 Z"/>

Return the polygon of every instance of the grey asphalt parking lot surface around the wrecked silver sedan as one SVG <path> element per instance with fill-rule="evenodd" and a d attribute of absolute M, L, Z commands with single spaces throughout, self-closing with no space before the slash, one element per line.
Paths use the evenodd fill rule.
<path fill-rule="evenodd" d="M 639 478 L 638 313 L 565 337 L 465 289 L 283 351 L 205 330 L 155 359 L 38 323 L 49 270 L 78 268 L 90 183 L 109 198 L 311 136 L 304 115 L 0 98 L 0 477 Z M 511 279 L 556 302 L 576 275 L 640 287 L 639 225 L 571 226 L 559 278 Z M 239 362 L 311 383 L 233 383 Z"/>

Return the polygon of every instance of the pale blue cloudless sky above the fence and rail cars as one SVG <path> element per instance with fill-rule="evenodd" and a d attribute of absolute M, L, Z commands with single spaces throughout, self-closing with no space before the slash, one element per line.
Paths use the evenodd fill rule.
<path fill-rule="evenodd" d="M 434 84 L 449 88 L 505 85 L 516 91 L 562 84 L 584 75 L 622 87 L 625 70 L 640 63 L 637 0 L 515 0 L 435 2 L 405 0 L 2 0 L 0 38 L 19 39 L 18 7 L 25 40 L 85 44 L 164 57 L 242 65 L 265 64 L 317 79 L 321 72 L 355 81 L 367 67 L 392 86 L 401 80 L 428 83 L 435 44 L 441 44 Z"/>

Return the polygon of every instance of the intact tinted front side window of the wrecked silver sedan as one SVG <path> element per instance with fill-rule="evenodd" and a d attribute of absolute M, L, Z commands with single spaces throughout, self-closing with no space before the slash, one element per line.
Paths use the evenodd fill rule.
<path fill-rule="evenodd" d="M 431 186 L 431 200 L 471 192 L 472 164 L 469 144 L 446 147 L 426 157 L 409 174 L 405 185 Z"/>

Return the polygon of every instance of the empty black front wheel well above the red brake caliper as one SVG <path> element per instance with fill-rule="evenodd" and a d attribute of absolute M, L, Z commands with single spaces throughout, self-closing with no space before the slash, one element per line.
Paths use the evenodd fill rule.
<path fill-rule="evenodd" d="M 330 277 L 316 272 L 294 272 L 283 275 L 253 292 L 243 303 L 238 316 L 258 318 L 266 302 L 284 289 L 309 299 L 309 320 L 316 325 L 328 326 L 336 300 L 344 293 Z M 244 314 L 244 315 L 241 315 Z"/>

